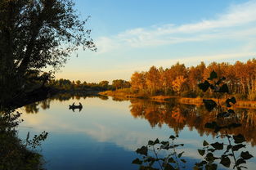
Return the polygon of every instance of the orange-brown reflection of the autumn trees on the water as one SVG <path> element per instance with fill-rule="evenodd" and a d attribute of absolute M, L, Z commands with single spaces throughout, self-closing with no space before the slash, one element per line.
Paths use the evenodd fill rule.
<path fill-rule="evenodd" d="M 246 141 L 251 145 L 256 145 L 256 136 L 254 134 L 256 128 L 256 110 L 238 109 L 236 114 L 225 119 L 217 119 L 216 113 L 211 113 L 195 105 L 181 105 L 175 103 L 159 103 L 155 101 L 132 100 L 130 111 L 134 118 L 146 119 L 152 128 L 161 127 L 167 124 L 169 128 L 173 128 L 178 134 L 183 128 L 188 127 L 191 131 L 196 130 L 200 136 L 212 135 L 217 136 L 213 129 L 204 128 L 209 122 L 216 122 L 219 125 L 227 125 L 230 123 L 241 123 L 239 128 L 221 129 L 220 134 L 238 135 L 242 132 Z"/>

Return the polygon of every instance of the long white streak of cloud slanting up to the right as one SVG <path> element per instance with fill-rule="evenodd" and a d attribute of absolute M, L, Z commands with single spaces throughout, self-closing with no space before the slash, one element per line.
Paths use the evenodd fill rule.
<path fill-rule="evenodd" d="M 223 38 L 250 38 L 256 35 L 256 0 L 232 5 L 214 20 L 184 25 L 160 25 L 126 30 L 112 37 L 98 38 L 100 53 L 117 48 L 162 46 Z"/>

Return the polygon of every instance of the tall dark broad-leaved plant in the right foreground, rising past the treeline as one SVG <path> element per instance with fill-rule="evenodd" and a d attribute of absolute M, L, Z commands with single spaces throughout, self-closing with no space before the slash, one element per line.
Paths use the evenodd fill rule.
<path fill-rule="evenodd" d="M 210 77 L 204 83 L 200 83 L 199 87 L 201 90 L 206 92 L 209 88 L 213 90 L 213 93 L 228 93 L 227 83 L 223 83 L 226 78 L 218 79 L 217 74 L 213 71 L 210 74 Z M 222 96 L 222 94 L 217 95 Z M 213 100 L 204 100 L 204 105 L 207 110 L 212 111 L 216 109 L 217 114 L 217 122 L 225 122 L 225 119 L 235 115 L 235 111 L 231 110 L 231 105 L 236 104 L 236 98 L 234 96 L 227 98 L 227 100 L 223 103 L 219 101 L 216 103 Z M 225 106 L 225 107 L 223 107 Z M 227 124 L 218 124 L 217 122 L 206 123 L 204 128 L 211 128 L 214 132 L 219 132 L 221 129 L 231 129 L 240 127 L 240 123 L 227 123 Z M 204 156 L 204 160 L 200 163 L 195 163 L 194 169 L 217 169 L 218 165 L 215 160 L 219 160 L 224 167 L 231 168 L 231 163 L 233 164 L 233 169 L 240 170 L 242 168 L 246 168 L 242 164 L 246 163 L 246 160 L 251 159 L 253 155 L 249 154 L 248 151 L 240 151 L 245 148 L 245 137 L 241 134 L 238 135 L 229 135 L 226 131 L 226 134 L 219 135 L 217 138 L 227 138 L 227 143 L 219 143 L 218 141 L 209 144 L 207 141 L 203 142 L 203 149 L 198 150 L 201 156 Z M 214 156 L 214 152 L 216 150 L 225 150 L 221 156 Z M 232 162 L 231 162 L 232 161 Z"/>

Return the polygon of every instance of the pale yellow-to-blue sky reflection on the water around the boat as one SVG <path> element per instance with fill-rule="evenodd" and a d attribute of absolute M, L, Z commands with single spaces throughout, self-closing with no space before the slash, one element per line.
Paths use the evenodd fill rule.
<path fill-rule="evenodd" d="M 73 102 L 81 102 L 83 110 L 69 110 Z M 19 128 L 23 138 L 28 131 L 31 134 L 49 132 L 42 145 L 47 169 L 138 169 L 132 164 L 137 158 L 134 150 L 149 140 L 164 140 L 175 134 L 165 123 L 161 123 L 161 128 L 157 125 L 152 128 L 146 119 L 134 118 L 130 112 L 134 105 L 130 101 L 74 98 L 48 101 L 48 104 L 47 110 L 38 105 L 37 114 L 25 114 L 22 108 L 25 122 Z M 182 128 L 179 136 L 176 142 L 185 144 L 182 157 L 188 160 L 186 168 L 190 169 L 196 159 L 198 162 L 202 159 L 197 149 L 202 148 L 204 140 L 212 141 L 213 136 L 200 136 L 188 127 Z M 246 150 L 256 155 L 250 145 Z M 246 166 L 254 169 L 256 160 L 250 159 Z"/>

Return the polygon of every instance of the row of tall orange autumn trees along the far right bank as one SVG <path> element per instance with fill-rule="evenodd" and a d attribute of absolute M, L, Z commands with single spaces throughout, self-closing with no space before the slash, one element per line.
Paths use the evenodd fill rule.
<path fill-rule="evenodd" d="M 227 78 L 230 93 L 238 99 L 256 100 L 256 60 L 236 61 L 234 65 L 227 62 L 212 62 L 208 66 L 200 65 L 187 68 L 177 63 L 168 69 L 152 66 L 148 71 L 135 72 L 131 77 L 131 92 L 141 95 L 155 96 L 210 96 L 203 94 L 198 83 L 209 78 L 212 71 L 219 78 Z"/>

